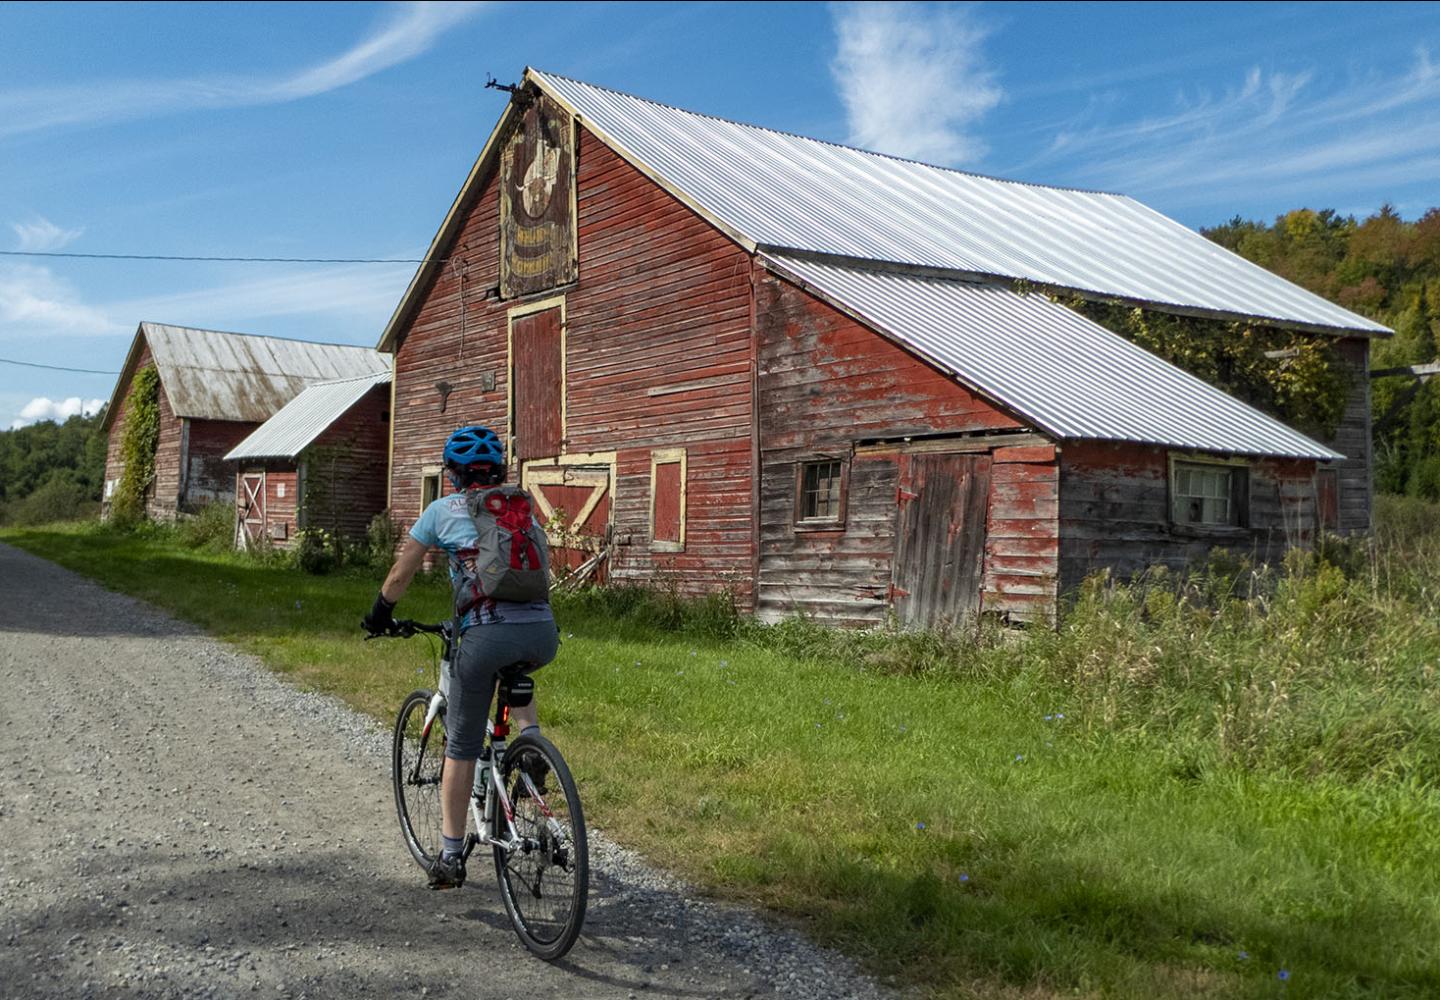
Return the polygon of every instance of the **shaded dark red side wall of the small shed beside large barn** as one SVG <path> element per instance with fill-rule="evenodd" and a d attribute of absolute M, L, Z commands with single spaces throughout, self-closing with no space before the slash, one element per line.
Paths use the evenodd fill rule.
<path fill-rule="evenodd" d="M 363 539 L 384 510 L 390 441 L 390 386 L 370 389 L 305 448 L 301 499 L 304 524 Z"/>

